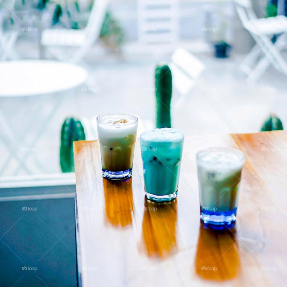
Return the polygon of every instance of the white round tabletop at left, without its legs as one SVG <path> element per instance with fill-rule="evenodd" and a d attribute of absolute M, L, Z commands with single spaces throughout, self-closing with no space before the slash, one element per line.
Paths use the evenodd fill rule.
<path fill-rule="evenodd" d="M 56 61 L 0 62 L 0 97 L 34 96 L 68 90 L 82 84 L 86 69 Z"/>

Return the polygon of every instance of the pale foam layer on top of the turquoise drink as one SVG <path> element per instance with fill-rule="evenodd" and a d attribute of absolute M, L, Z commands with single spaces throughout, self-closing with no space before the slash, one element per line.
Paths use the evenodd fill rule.
<path fill-rule="evenodd" d="M 157 143 L 177 143 L 179 141 L 182 141 L 183 138 L 184 136 L 181 132 L 179 132 L 177 129 L 172 128 L 152 129 L 141 134 L 142 141 L 150 141 Z"/>

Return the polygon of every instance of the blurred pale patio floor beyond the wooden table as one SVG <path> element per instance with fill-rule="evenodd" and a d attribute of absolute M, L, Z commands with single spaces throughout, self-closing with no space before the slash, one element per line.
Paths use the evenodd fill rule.
<path fill-rule="evenodd" d="M 198 83 L 187 96 L 180 112 L 172 112 L 172 125 L 185 135 L 210 133 L 257 132 L 270 112 L 276 113 L 287 125 L 286 76 L 270 67 L 255 84 L 248 84 L 246 76 L 238 65 L 242 55 L 230 59 L 215 59 L 211 55 L 196 55 L 205 65 Z M 161 59 L 164 60 L 164 59 Z M 65 98 L 53 122 L 45 130 L 36 147 L 36 156 L 43 162 L 47 172 L 59 172 L 59 133 L 67 116 L 79 119 L 91 118 L 103 113 L 129 113 L 142 120 L 154 123 L 155 95 L 154 68 L 158 60 L 110 57 L 97 62 L 86 61 L 83 65 L 89 71 L 88 84 L 77 88 Z M 172 106 L 178 99 L 174 91 Z M 22 99 L 0 99 L 1 110 L 9 122 L 21 132 L 29 122 L 29 110 L 37 105 L 45 107 L 39 122 L 30 128 L 27 138 L 35 128 L 41 128 L 41 117 L 56 102 L 55 97 L 25 97 Z M 7 152 L 1 146 L 1 162 Z M 21 155 L 21 147 L 17 149 Z M 34 168 L 32 157 L 29 165 Z M 10 162 L 3 175 L 12 175 L 15 162 Z M 35 173 L 40 171 L 35 168 Z M 21 171 L 20 174 L 25 174 Z"/>

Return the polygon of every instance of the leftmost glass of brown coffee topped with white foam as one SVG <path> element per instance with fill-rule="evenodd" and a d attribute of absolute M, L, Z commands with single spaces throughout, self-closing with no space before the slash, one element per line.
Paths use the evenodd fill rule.
<path fill-rule="evenodd" d="M 132 175 L 138 118 L 110 114 L 97 117 L 103 177 L 124 179 Z"/>

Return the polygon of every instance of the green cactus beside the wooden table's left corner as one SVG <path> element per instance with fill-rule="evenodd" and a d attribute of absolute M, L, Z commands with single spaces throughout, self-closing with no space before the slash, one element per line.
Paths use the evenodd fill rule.
<path fill-rule="evenodd" d="M 60 166 L 62 172 L 75 170 L 73 142 L 85 139 L 82 123 L 73 117 L 66 118 L 61 129 Z"/>

